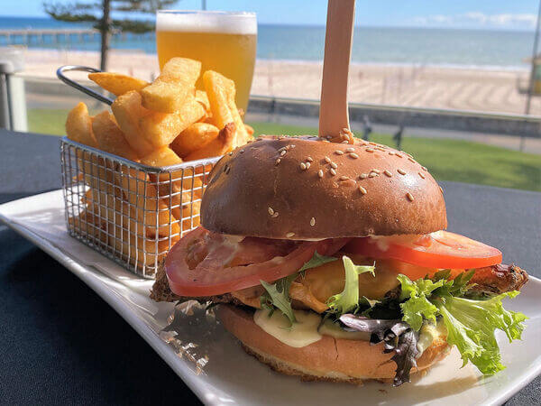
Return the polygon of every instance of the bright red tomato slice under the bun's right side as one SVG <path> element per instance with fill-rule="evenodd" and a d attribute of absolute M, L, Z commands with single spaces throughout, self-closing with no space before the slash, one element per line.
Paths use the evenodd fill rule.
<path fill-rule="evenodd" d="M 344 246 L 344 252 L 433 269 L 463 270 L 501 263 L 497 248 L 448 231 L 353 238 Z"/>

